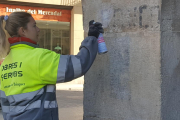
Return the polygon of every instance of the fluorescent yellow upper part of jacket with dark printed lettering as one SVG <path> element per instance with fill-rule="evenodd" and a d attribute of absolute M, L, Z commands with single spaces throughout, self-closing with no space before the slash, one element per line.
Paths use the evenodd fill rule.
<path fill-rule="evenodd" d="M 55 84 L 59 59 L 60 54 L 47 49 L 26 44 L 12 46 L 1 65 L 1 90 L 9 96 Z"/>

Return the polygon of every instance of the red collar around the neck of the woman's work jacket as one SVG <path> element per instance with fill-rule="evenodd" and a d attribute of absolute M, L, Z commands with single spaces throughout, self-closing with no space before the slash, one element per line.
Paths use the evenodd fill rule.
<path fill-rule="evenodd" d="M 37 42 L 32 41 L 31 39 L 26 38 L 26 37 L 12 37 L 12 38 L 8 38 L 8 41 L 9 41 L 11 46 L 14 46 L 17 44 L 26 44 L 26 45 L 29 45 L 29 46 L 34 47 L 34 48 L 39 47 L 37 45 Z"/>

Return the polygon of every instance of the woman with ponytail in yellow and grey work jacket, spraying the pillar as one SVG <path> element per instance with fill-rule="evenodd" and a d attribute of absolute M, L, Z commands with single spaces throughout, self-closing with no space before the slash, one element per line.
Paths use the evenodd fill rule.
<path fill-rule="evenodd" d="M 78 78 L 91 67 L 103 30 L 101 23 L 93 23 L 89 22 L 88 37 L 77 55 L 60 55 L 38 48 L 40 29 L 31 14 L 0 16 L 1 53 L 7 54 L 0 70 L 4 120 L 58 120 L 55 85 Z"/>

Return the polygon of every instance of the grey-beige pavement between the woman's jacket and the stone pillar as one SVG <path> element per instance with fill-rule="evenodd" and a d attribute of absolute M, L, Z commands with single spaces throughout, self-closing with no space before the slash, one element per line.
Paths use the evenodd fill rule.
<path fill-rule="evenodd" d="M 59 120 L 83 120 L 83 92 L 57 91 Z"/>

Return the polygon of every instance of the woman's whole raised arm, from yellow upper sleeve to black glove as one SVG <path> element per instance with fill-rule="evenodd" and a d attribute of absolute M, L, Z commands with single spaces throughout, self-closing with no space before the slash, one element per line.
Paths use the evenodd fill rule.
<path fill-rule="evenodd" d="M 90 22 L 92 24 L 92 21 Z M 83 40 L 77 55 L 59 55 L 44 50 L 40 57 L 40 78 L 44 84 L 68 82 L 84 75 L 94 62 L 97 50 L 99 30 L 102 24 L 89 28 L 88 37 Z"/>

